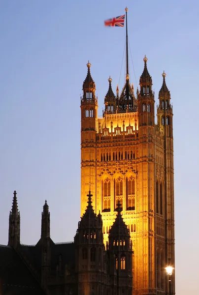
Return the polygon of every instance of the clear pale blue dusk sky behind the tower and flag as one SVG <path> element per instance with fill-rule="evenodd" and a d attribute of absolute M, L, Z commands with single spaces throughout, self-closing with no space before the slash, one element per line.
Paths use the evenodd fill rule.
<path fill-rule="evenodd" d="M 88 59 L 99 115 L 111 75 L 124 83 L 125 29 L 103 20 L 128 6 L 131 82 L 143 57 L 157 101 L 162 72 L 174 113 L 176 293 L 198 293 L 199 2 L 197 0 L 0 1 L 0 243 L 8 238 L 13 191 L 21 241 L 40 237 L 47 199 L 51 237 L 73 240 L 80 219 L 80 95 Z M 123 62 L 124 65 L 124 62 Z M 121 78 L 120 78 L 121 72 Z"/>

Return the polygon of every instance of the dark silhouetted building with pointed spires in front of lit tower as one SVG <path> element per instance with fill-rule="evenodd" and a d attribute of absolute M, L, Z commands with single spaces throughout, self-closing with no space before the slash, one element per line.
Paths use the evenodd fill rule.
<path fill-rule="evenodd" d="M 132 242 L 121 215 L 103 242 L 101 214 L 88 206 L 71 243 L 50 238 L 47 202 L 41 215 L 41 238 L 34 246 L 20 243 L 20 214 L 14 192 L 8 246 L 0 245 L 0 278 L 5 295 L 132 295 Z"/>

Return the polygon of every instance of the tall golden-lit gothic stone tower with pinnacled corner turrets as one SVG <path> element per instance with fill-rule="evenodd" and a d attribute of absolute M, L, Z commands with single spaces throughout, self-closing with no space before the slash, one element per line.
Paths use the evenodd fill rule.
<path fill-rule="evenodd" d="M 155 124 L 152 78 L 144 58 L 136 98 L 126 75 L 119 95 L 109 89 L 98 118 L 95 83 L 88 74 L 81 99 L 81 214 L 91 190 L 95 212 L 101 211 L 104 243 L 121 204 L 133 244 L 133 294 L 166 295 L 165 266 L 174 266 L 173 135 L 170 92 L 159 92 Z M 175 292 L 172 279 L 172 292 Z"/>

